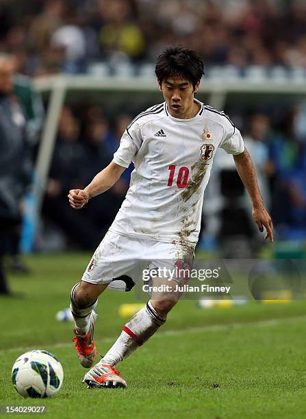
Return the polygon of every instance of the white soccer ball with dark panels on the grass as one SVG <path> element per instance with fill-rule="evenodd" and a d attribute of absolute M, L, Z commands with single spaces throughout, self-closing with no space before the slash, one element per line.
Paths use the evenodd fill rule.
<path fill-rule="evenodd" d="M 29 351 L 18 357 L 12 381 L 23 397 L 51 397 L 60 390 L 64 372 L 60 361 L 47 351 Z"/>

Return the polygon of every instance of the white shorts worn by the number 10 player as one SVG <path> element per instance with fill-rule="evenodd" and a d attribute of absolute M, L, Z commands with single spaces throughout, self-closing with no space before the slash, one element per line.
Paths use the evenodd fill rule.
<path fill-rule="evenodd" d="M 144 269 L 191 268 L 193 258 L 194 249 L 179 242 L 157 242 L 107 231 L 81 280 L 94 284 L 112 282 L 108 288 L 129 291 L 142 277 Z"/>

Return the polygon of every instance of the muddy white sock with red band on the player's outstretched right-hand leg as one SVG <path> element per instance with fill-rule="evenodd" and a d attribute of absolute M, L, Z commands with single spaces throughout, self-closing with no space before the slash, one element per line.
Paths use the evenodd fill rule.
<path fill-rule="evenodd" d="M 101 364 L 115 366 L 131 355 L 138 346 L 141 346 L 164 325 L 166 319 L 159 318 L 150 301 L 136 313 L 135 316 L 123 327 L 119 338 L 110 351 L 101 359 Z"/>

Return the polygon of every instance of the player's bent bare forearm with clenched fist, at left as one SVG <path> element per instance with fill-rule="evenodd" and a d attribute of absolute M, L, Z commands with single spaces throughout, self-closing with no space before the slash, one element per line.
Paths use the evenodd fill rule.
<path fill-rule="evenodd" d="M 69 191 L 68 199 L 71 207 L 80 210 L 88 201 L 112 188 L 114 183 L 125 171 L 125 167 L 119 166 L 115 162 L 105 167 L 99 172 L 85 189 L 72 189 Z"/>

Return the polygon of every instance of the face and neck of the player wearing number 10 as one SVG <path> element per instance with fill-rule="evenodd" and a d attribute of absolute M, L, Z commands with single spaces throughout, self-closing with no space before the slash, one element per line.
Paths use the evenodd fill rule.
<path fill-rule="evenodd" d="M 162 81 L 160 90 L 171 116 L 188 119 L 196 115 L 199 106 L 194 102 L 194 93 L 199 86 L 200 83 L 197 83 L 194 88 L 190 81 L 181 77 L 168 77 Z"/>

